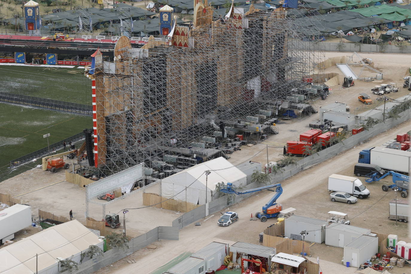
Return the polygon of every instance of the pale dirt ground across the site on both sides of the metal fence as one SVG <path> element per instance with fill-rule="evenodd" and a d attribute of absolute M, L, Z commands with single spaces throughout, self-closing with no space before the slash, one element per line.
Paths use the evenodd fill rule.
<path fill-rule="evenodd" d="M 325 53 L 326 58 L 351 55 L 352 53 Z M 404 58 L 400 54 L 362 54 L 365 58 L 372 58 L 375 67 L 378 67 L 384 73 L 385 82 L 396 82 L 401 87 L 399 92 L 389 94 L 391 98 L 397 98 L 404 94 L 408 94 L 407 90 L 402 90 L 402 77 L 407 68 L 410 67 L 409 58 Z M 333 71 L 336 68 L 330 68 L 326 72 Z M 338 69 L 337 69 L 338 70 Z M 342 74 L 341 74 L 342 75 Z M 343 78 L 343 77 L 342 77 Z M 358 93 L 370 92 L 370 89 L 377 85 L 373 82 L 356 81 L 354 87 L 341 89 L 338 86 L 332 87 L 330 96 L 322 101 L 315 101 L 316 107 L 331 104 L 334 101 L 347 103 L 351 109 L 358 108 L 358 111 L 365 111 L 369 108 L 375 107 L 374 103 L 371 106 L 364 107 L 357 100 Z M 370 94 L 371 95 L 371 94 Z M 374 99 L 375 96 L 372 96 Z M 297 140 L 300 132 L 308 130 L 308 124 L 311 121 L 318 119 L 318 113 L 311 117 L 303 117 L 294 120 L 280 120 L 278 122 L 279 134 L 270 136 L 266 143 L 270 144 L 284 144 L 287 140 Z M 401 235 L 400 238 L 410 242 L 410 238 L 406 238 L 407 228 L 406 224 L 399 223 L 395 227 L 394 221 L 388 221 L 386 215 L 387 201 L 393 198 L 393 192 L 383 192 L 381 190 L 382 182 L 374 182 L 368 184 L 371 193 L 369 199 L 360 200 L 355 205 L 347 205 L 343 203 L 332 203 L 326 191 L 326 178 L 330 173 L 339 173 L 343 175 L 352 175 L 354 163 L 358 159 L 358 151 L 370 146 L 379 146 L 386 142 L 386 140 L 393 139 L 395 134 L 408 131 L 411 128 L 411 121 L 404 122 L 379 136 L 372 138 L 369 143 L 360 145 L 346 151 L 337 157 L 334 157 L 324 163 L 314 166 L 303 173 L 299 173 L 288 180 L 282 182 L 284 193 L 279 199 L 279 202 L 284 207 L 294 207 L 297 209 L 296 214 L 304 216 L 311 216 L 318 219 L 325 219 L 329 210 L 342 211 L 349 214 L 350 217 L 356 216 L 352 220 L 352 225 L 370 228 L 372 231 L 380 233 L 390 233 Z M 282 147 L 268 147 L 268 160 L 276 161 L 282 157 Z M 229 161 L 233 164 L 238 164 L 243 161 L 259 161 L 263 165 L 267 162 L 266 144 L 258 144 L 252 147 L 243 146 L 241 151 L 231 154 Z M 63 170 L 57 173 L 44 172 L 40 168 L 28 170 L 25 173 L 17 175 L 13 178 L 5 180 L 0 183 L 1 193 L 11 193 L 13 196 L 20 195 L 29 191 L 18 198 L 22 199 L 22 203 L 27 203 L 32 206 L 33 217 L 38 218 L 37 210 L 42 209 L 52 212 L 56 215 L 63 215 L 68 217 L 70 209 L 73 210 L 74 218 L 82 223 L 85 223 L 85 194 L 84 189 L 63 181 L 65 178 Z M 62 182 L 60 182 L 62 181 Z M 54 184 L 57 183 L 57 184 Z M 40 189 L 41 188 L 41 189 Z M 38 189 L 38 190 L 37 190 Z M 385 196 L 384 196 L 385 195 Z M 272 196 L 271 192 L 263 192 L 254 195 L 242 202 L 236 204 L 230 210 L 234 210 L 240 214 L 240 221 L 230 227 L 217 227 L 216 221 L 218 215 L 215 214 L 207 221 L 201 220 L 201 226 L 194 226 L 194 223 L 183 230 L 180 230 L 180 240 L 173 241 L 159 241 L 156 242 L 157 249 L 141 249 L 136 251 L 129 258 L 137 260 L 139 265 L 139 273 L 149 273 L 153 269 L 163 265 L 165 262 L 175 258 L 184 252 L 195 252 L 209 242 L 219 241 L 233 244 L 237 241 L 258 243 L 258 234 L 261 233 L 268 225 L 274 222 L 269 220 L 266 223 L 260 221 L 248 221 L 251 213 L 255 213 L 261 206 L 266 203 Z M 379 200 L 381 198 L 381 200 Z M 141 196 L 135 194 L 129 198 L 118 200 L 107 206 L 106 212 L 119 212 L 122 208 L 139 207 L 141 205 Z M 375 203 L 375 205 L 373 205 Z M 137 236 L 141 233 L 155 228 L 156 226 L 171 226 L 171 222 L 178 217 L 176 212 L 171 210 L 164 210 L 158 208 L 145 208 L 141 210 L 130 211 L 127 213 L 127 235 Z M 90 206 L 90 216 L 99 219 L 102 215 L 102 209 L 99 206 Z M 364 221 L 365 219 L 365 221 Z M 122 222 L 122 216 L 120 215 Z M 30 231 L 35 232 L 34 229 Z M 27 237 L 27 236 L 22 236 Z M 195 243 L 195 244 L 193 244 Z M 316 245 L 314 245 L 316 248 Z M 315 251 L 320 254 L 320 264 L 326 268 L 329 265 L 330 271 L 324 270 L 324 273 L 335 272 L 332 269 L 334 263 L 339 263 L 341 256 L 332 256 L 334 253 Z M 162 258 L 159 260 L 159 258 Z M 330 262 L 327 262 L 330 261 Z M 323 263 L 322 263 L 323 262 Z M 126 261 L 120 260 L 112 266 L 105 267 L 98 271 L 103 272 L 121 272 L 121 273 L 135 273 L 134 264 L 129 265 Z M 336 266 L 341 267 L 337 264 Z M 323 268 L 323 266 L 321 266 Z M 353 273 L 347 271 L 348 269 L 341 268 L 339 273 Z"/>

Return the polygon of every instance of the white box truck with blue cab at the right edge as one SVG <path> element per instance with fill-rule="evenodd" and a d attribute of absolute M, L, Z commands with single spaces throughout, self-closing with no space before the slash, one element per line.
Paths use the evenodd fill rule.
<path fill-rule="evenodd" d="M 409 173 L 411 151 L 395 150 L 388 147 L 372 147 L 360 151 L 358 163 L 371 163 L 385 170 Z"/>

